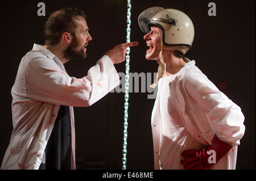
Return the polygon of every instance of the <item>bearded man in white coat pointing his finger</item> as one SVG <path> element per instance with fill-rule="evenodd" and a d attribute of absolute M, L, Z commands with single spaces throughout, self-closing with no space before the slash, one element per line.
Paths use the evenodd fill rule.
<path fill-rule="evenodd" d="M 14 129 L 1 169 L 75 169 L 73 106 L 90 106 L 119 85 L 113 64 L 125 60 L 125 48 L 138 44 L 117 45 L 88 75 L 70 77 L 64 64 L 85 58 L 92 41 L 85 18 L 74 7 L 53 12 L 44 46 L 34 44 L 22 58 L 11 90 Z"/>

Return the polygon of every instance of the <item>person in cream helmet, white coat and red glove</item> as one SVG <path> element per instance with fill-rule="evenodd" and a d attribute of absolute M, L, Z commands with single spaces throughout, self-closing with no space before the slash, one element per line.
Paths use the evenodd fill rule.
<path fill-rule="evenodd" d="M 156 60 L 158 86 L 151 126 L 155 169 L 236 169 L 237 146 L 245 132 L 241 108 L 185 57 L 195 30 L 175 9 L 151 7 L 138 17 Z"/>

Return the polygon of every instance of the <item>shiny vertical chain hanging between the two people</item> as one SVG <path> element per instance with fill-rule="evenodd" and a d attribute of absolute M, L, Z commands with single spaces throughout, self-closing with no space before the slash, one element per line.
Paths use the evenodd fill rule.
<path fill-rule="evenodd" d="M 126 43 L 130 42 L 131 35 L 131 0 L 127 0 L 127 28 L 126 28 Z M 129 107 L 129 71 L 130 71 L 130 47 L 126 48 L 126 64 L 125 64 L 125 112 L 123 123 L 123 166 L 122 170 L 126 170 L 126 155 L 127 155 L 127 128 L 128 128 L 128 107 Z"/>

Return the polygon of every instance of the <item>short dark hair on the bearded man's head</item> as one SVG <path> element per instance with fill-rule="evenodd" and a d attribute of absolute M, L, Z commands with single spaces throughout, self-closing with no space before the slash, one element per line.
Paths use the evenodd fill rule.
<path fill-rule="evenodd" d="M 64 32 L 76 35 L 77 23 L 75 20 L 86 18 L 85 12 L 77 10 L 76 7 L 67 7 L 59 11 L 52 12 L 44 26 L 44 37 L 46 45 L 57 45 L 60 43 Z"/>

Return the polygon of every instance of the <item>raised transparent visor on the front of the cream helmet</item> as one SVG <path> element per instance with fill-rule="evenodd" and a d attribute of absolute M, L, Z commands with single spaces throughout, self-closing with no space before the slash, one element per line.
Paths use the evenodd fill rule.
<path fill-rule="evenodd" d="M 163 7 L 150 7 L 144 10 L 138 17 L 139 27 L 143 32 L 150 32 L 150 27 L 148 27 L 148 23 L 152 20 L 152 18 L 158 14 L 158 12 L 163 11 Z"/>

